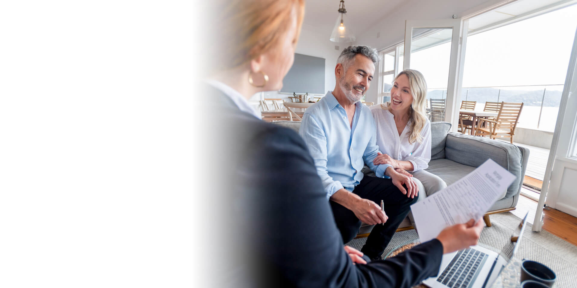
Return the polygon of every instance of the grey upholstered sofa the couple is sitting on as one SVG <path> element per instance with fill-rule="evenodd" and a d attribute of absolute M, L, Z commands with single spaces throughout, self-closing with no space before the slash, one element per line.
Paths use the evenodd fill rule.
<path fill-rule="evenodd" d="M 293 121 L 272 123 L 291 128 L 297 132 L 301 126 L 301 122 Z M 490 214 L 515 209 L 527 168 L 529 149 L 499 140 L 448 132 L 450 128 L 451 123 L 448 122 L 431 123 L 431 161 L 427 171 L 441 177 L 447 185 L 451 185 L 491 158 L 517 177 L 485 214 L 485 223 L 487 226 L 491 226 Z M 362 234 L 369 233 L 372 228 L 372 225 L 363 225 L 359 236 L 365 236 Z M 412 228 L 409 219 L 405 219 L 399 225 L 399 230 Z"/>

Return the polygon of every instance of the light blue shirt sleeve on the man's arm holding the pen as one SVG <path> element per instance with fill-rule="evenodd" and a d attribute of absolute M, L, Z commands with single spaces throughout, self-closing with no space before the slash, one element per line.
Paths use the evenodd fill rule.
<path fill-rule="evenodd" d="M 298 134 L 305 140 L 306 146 L 309 148 L 310 156 L 313 157 L 314 166 L 323 182 L 323 187 L 325 192 L 327 192 L 328 199 L 335 194 L 336 191 L 344 187 L 340 181 L 333 180 L 332 177 L 328 175 L 327 135 L 323 128 L 320 127 L 319 122 L 317 122 L 310 113 L 305 113 L 305 115 L 302 116 L 301 128 Z"/>

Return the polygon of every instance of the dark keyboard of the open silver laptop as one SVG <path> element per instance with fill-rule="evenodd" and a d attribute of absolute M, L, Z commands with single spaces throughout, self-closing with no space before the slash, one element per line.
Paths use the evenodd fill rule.
<path fill-rule="evenodd" d="M 438 282 L 451 288 L 466 288 L 477 278 L 476 272 L 482 267 L 487 255 L 473 248 L 461 250 L 437 278 Z"/>

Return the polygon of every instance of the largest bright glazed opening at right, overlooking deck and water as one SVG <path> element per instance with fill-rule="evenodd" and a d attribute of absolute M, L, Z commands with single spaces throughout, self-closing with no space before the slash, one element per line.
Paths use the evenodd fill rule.
<path fill-rule="evenodd" d="M 462 100 L 522 102 L 517 127 L 553 132 L 575 15 L 577 5 L 468 36 Z"/>

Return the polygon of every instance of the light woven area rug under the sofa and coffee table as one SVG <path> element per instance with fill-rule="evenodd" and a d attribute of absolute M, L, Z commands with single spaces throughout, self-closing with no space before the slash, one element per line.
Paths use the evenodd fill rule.
<path fill-rule="evenodd" d="M 501 251 L 504 245 L 511 241 L 513 234 L 520 223 L 520 219 L 510 212 L 491 215 L 491 227 L 485 227 L 479 238 L 479 243 L 493 251 Z M 533 232 L 533 225 L 527 223 L 523 239 L 520 242 L 517 257 L 541 262 L 557 274 L 557 281 L 553 287 L 577 287 L 577 247 L 569 242 L 541 230 Z M 383 258 L 403 245 L 419 240 L 415 230 L 397 232 L 383 253 Z M 347 245 L 361 250 L 366 238 L 358 238 Z"/>

